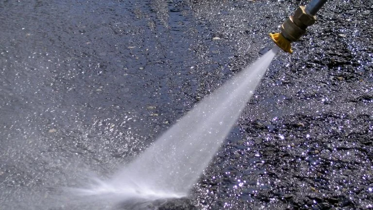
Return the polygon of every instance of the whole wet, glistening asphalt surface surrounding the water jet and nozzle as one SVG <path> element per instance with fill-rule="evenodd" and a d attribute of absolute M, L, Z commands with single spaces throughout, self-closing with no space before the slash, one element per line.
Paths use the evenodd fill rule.
<path fill-rule="evenodd" d="M 0 209 L 104 209 L 54 196 L 146 149 L 305 3 L 1 2 Z M 159 209 L 372 209 L 372 13 L 328 1 L 190 197 Z"/>

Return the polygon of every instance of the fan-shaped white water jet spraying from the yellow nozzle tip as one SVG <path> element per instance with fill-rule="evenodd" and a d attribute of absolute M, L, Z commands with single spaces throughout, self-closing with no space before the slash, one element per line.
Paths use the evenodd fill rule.
<path fill-rule="evenodd" d="M 122 200 L 186 196 L 229 134 L 278 49 L 273 47 L 203 99 L 110 180 L 96 179 L 76 192 Z"/>

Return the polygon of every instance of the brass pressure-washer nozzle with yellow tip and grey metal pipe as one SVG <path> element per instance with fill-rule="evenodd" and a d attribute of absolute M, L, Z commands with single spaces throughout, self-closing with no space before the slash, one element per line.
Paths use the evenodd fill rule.
<path fill-rule="evenodd" d="M 305 7 L 299 6 L 294 15 L 281 25 L 281 33 L 270 34 L 271 39 L 285 52 L 293 53 L 291 42 L 297 41 L 305 34 L 305 29 L 315 23 L 315 15 L 325 2 L 326 0 L 311 0 Z"/>

